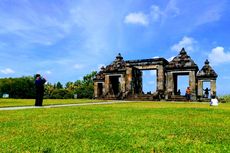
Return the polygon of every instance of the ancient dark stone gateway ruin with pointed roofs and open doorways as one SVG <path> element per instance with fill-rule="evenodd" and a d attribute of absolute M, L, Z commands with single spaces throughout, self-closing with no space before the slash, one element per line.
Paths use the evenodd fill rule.
<path fill-rule="evenodd" d="M 156 70 L 156 92 L 142 91 L 142 71 Z M 196 63 L 182 48 L 180 53 L 167 61 L 164 58 L 151 58 L 125 61 L 119 53 L 116 59 L 102 67 L 94 78 L 94 96 L 97 99 L 135 99 L 135 100 L 185 100 L 178 95 L 178 76 L 189 77 L 192 100 L 204 97 L 203 82 L 210 82 L 210 94 L 216 95 L 217 74 L 208 60 L 199 70 Z"/>

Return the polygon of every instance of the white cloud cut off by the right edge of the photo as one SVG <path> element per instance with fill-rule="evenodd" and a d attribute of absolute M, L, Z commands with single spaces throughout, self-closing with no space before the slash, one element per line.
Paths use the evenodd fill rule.
<path fill-rule="evenodd" d="M 208 55 L 208 59 L 213 65 L 230 63 L 230 51 L 225 52 L 224 47 L 221 46 L 213 48 L 211 53 Z"/>

